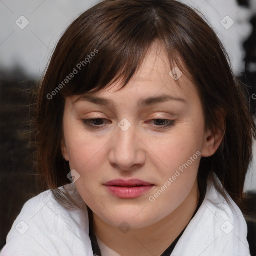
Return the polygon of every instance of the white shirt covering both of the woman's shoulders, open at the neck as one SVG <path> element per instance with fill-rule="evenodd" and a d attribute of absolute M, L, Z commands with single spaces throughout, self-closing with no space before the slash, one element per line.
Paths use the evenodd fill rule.
<path fill-rule="evenodd" d="M 24 204 L 0 256 L 93 256 L 88 234 L 87 209 L 67 210 L 47 190 Z M 247 225 L 238 206 L 231 198 L 228 204 L 208 184 L 202 205 L 171 256 L 249 256 L 246 236 Z M 99 241 L 99 247 L 104 246 Z M 119 255 L 108 247 L 101 253 Z"/>

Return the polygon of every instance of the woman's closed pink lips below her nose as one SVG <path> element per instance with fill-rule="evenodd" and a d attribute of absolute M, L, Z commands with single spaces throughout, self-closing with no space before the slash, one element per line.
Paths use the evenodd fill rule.
<path fill-rule="evenodd" d="M 138 197 L 154 186 L 140 179 L 114 179 L 106 182 L 104 185 L 112 195 L 120 198 Z"/>

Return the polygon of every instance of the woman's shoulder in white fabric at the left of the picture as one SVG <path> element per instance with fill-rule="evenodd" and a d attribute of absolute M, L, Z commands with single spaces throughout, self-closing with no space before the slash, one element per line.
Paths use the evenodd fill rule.
<path fill-rule="evenodd" d="M 0 255 L 93 255 L 88 233 L 86 207 L 68 210 L 47 190 L 24 204 Z"/>

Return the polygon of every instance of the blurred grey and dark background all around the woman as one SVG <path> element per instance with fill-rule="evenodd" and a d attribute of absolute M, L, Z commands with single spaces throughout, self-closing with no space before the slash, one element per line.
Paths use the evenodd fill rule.
<path fill-rule="evenodd" d="M 224 44 L 232 68 L 256 106 L 256 0 L 181 0 L 198 9 Z M 0 249 L 39 184 L 29 144 L 32 89 L 65 28 L 98 0 L 0 0 Z M 254 143 L 254 151 L 256 144 Z M 251 255 L 256 255 L 256 153 L 244 185 Z"/>

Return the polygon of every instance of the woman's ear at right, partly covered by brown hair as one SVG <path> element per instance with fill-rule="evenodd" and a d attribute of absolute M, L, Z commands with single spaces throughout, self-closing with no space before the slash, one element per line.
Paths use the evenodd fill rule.
<path fill-rule="evenodd" d="M 201 150 L 202 157 L 208 157 L 213 155 L 225 134 L 225 113 L 224 111 L 218 111 L 218 127 L 214 127 L 213 129 L 207 129 L 204 134 L 204 143 Z"/>

